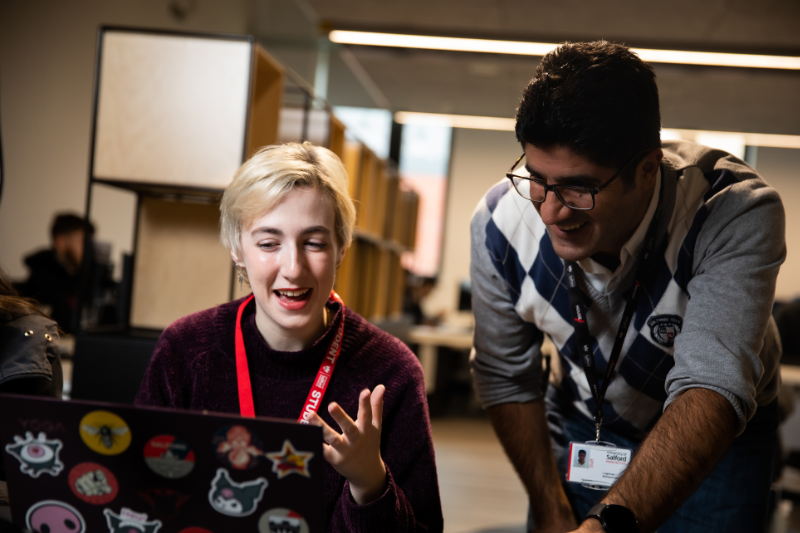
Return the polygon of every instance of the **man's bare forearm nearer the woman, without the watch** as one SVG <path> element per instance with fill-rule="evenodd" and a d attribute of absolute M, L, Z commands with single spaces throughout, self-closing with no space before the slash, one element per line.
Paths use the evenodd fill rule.
<path fill-rule="evenodd" d="M 544 401 L 504 403 L 488 409 L 500 438 L 528 491 L 536 531 L 562 533 L 577 525 L 553 458 Z"/>

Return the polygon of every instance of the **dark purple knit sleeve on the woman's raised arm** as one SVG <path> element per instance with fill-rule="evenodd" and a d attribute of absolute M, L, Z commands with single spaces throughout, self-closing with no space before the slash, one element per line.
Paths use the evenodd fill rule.
<path fill-rule="evenodd" d="M 416 533 L 444 528 L 422 368 L 411 357 L 395 370 L 408 376 L 405 386 L 398 390 L 400 380 L 394 387 L 388 384 L 384 397 L 381 456 L 386 464 L 386 490 L 376 500 L 358 505 L 345 482 L 329 532 Z"/>

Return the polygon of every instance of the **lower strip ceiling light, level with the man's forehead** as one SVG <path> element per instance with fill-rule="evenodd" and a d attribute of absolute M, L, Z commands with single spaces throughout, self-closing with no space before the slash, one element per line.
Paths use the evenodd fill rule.
<path fill-rule="evenodd" d="M 446 115 L 442 113 L 413 113 L 398 111 L 394 114 L 398 124 L 436 124 L 452 128 L 478 130 L 514 131 L 516 120 L 503 117 L 479 117 L 473 115 Z M 800 149 L 800 135 L 777 135 L 771 133 L 742 133 L 734 131 L 686 130 L 663 128 L 661 138 L 685 139 L 708 144 L 741 143 L 745 146 L 769 146 L 773 148 Z M 713 142 L 710 142 L 711 140 Z"/>

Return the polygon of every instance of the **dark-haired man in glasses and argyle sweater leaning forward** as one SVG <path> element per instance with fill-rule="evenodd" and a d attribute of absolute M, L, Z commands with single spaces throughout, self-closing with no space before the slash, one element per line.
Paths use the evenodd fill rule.
<path fill-rule="evenodd" d="M 662 143 L 655 73 L 603 41 L 543 58 L 516 135 L 523 154 L 472 220 L 471 365 L 529 528 L 763 531 L 778 194 L 730 154 Z M 566 481 L 587 441 L 633 450 L 609 490 Z"/>

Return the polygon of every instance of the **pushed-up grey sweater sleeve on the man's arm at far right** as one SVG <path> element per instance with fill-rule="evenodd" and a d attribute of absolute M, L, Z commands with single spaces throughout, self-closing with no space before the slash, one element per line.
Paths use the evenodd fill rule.
<path fill-rule="evenodd" d="M 722 160 L 717 168 L 724 165 Z M 690 300 L 675 339 L 675 366 L 667 375 L 664 404 L 666 409 L 690 388 L 714 390 L 733 405 L 737 434 L 778 371 L 776 343 L 766 336 L 774 334 L 768 325 L 786 256 L 780 197 L 763 180 L 752 178 L 706 203 L 708 218 L 695 245 Z"/>

